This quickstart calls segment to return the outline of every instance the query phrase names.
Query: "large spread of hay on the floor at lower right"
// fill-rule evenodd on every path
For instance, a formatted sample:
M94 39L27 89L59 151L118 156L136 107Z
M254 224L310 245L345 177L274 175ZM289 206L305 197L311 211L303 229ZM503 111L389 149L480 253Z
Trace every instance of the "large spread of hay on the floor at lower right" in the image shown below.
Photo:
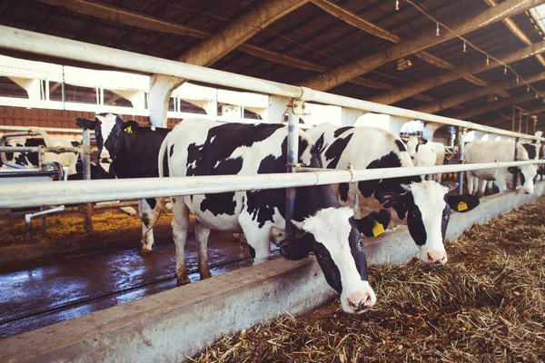
M224 337L190 361L543 361L544 225L541 199L448 243L445 267L372 267L379 302L362 315L337 299Z

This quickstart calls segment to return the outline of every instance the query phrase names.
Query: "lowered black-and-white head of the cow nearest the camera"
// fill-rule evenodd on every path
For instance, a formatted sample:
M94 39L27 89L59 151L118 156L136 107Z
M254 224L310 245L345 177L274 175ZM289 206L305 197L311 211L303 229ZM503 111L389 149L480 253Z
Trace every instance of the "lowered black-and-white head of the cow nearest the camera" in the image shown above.
M369 285L363 236L356 229L353 215L350 207L325 208L304 221L292 221L306 234L282 240L279 246L282 256L290 260L300 260L313 252L325 280L341 295L342 309L358 314L372 307L377 298Z

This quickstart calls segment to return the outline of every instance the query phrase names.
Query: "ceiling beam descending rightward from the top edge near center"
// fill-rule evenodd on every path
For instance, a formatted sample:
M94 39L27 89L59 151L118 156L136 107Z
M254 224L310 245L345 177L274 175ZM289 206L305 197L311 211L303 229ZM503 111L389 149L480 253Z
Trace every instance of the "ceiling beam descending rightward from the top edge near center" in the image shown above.
M348 10L343 9L339 5L332 4L328 0L312 0L312 4L321 7L323 10L325 10L329 14L338 17L343 22L348 23L364 32L381 37L382 39L389 40L394 44L398 44L401 42L400 36L391 33L390 31L382 28L379 25L373 24L369 20L362 18L362 16L360 15L354 14ZM422 61L435 65L436 67L450 69L450 70L456 69L456 65L451 64L450 62L447 62L436 55L430 54L429 52L420 51L415 53L414 55L421 58ZM470 81L471 83L475 83L482 87L488 86L488 83L482 81L481 79L473 75L468 76L466 79ZM504 95L504 96L509 96L509 95Z

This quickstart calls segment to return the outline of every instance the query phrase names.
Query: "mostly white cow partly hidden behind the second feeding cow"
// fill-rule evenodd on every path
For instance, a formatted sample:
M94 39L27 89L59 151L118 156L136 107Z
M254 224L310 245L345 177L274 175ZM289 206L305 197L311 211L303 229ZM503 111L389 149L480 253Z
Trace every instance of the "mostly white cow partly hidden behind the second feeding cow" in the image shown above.
M407 140L407 152L415 166L442 165L445 159L445 145L426 139L419 141L416 136ZM426 175L426 179L441 182L441 173Z

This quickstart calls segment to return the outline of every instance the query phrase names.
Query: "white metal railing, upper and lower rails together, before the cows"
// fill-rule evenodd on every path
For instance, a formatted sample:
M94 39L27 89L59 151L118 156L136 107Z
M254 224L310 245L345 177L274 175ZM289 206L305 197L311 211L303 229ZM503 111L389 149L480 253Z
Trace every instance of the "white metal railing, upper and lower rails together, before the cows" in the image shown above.
M193 64L183 64L176 61L154 58L143 54L134 54L100 45L85 44L6 26L0 26L0 48L12 49L25 53L45 54L91 64L103 64L105 66L148 74L175 76L186 80L213 83L257 93L273 94L291 98L298 103L309 101L332 104L373 113L387 113L405 118L419 119L431 123L450 124L458 126L459 130L479 130L515 138L545 141L545 138L495 129L478 123L470 123L449 117L401 109L399 107L383 105L380 103L371 103L341 95L314 91L302 86L265 81L241 74L230 74ZM292 112L293 110L290 108L290 120L293 119ZM279 122L280 121L281 120L279 120ZM290 140L293 138L293 132L298 132L297 128L298 124L294 127L290 127ZM297 142L295 142L295 144L297 144ZM297 161L291 160L289 162L293 164ZM6 186L3 198L0 200L0 208L128 200L226 191L292 188L338 182L360 182L438 172L464 172L538 163L544 162L488 162L481 164L332 172L295 172L286 174L233 176L220 175L191 178L124 179L114 181L75 181L50 183L48 185L29 182L25 183L24 186ZM461 180L460 177L459 180ZM36 191L39 191L39 193L36 193Z

